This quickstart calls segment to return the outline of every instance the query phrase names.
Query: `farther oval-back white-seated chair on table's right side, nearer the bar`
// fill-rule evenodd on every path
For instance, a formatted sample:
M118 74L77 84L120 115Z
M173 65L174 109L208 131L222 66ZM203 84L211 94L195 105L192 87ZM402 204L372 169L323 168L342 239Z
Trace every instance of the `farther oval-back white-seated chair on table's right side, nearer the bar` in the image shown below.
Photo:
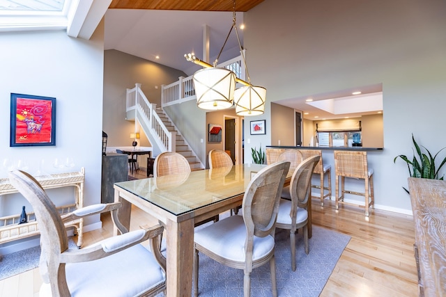
M308 203L311 203L312 175L320 156L310 156L295 168L289 186L288 199L281 199L276 227L290 230L291 269L295 271L295 232L302 228L305 253L308 255Z

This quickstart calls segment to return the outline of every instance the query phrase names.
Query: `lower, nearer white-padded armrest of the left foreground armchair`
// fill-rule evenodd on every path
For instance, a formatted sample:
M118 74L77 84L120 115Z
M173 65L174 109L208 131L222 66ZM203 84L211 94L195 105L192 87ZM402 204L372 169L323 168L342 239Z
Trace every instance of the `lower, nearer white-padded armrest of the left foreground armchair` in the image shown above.
M155 225L145 230L135 230L104 239L98 243L95 243L93 246L82 248L82 250L66 250L61 253L61 263L78 263L101 259L103 257L113 255L116 252L120 252L121 250L125 250L126 248L130 248L136 244L142 243L148 239L153 241L153 243L151 243L151 248L153 254L155 255L155 259L158 260L156 250L159 252L159 248L153 249L153 246L158 246L158 236L162 234L163 230L164 227ZM162 266L162 259L159 263ZM164 266L162 266L162 268L165 270L165 259Z

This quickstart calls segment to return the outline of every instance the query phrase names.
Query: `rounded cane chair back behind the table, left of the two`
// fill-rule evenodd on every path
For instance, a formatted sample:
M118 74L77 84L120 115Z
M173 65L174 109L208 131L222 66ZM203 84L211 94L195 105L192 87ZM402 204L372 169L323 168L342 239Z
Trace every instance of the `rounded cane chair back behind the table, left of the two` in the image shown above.
M178 152L162 152L158 154L153 163L153 168L154 177L190 172L189 162Z

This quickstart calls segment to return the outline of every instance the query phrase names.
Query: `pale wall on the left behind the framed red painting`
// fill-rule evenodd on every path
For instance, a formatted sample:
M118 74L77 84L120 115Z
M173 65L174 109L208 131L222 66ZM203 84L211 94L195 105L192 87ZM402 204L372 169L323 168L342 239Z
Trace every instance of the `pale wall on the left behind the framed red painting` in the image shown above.
M0 33L0 161L26 161L28 171L58 172L55 158L72 157L86 171L84 204L100 202L102 160L103 25L91 40L70 38L66 31ZM10 93L56 97L56 145L9 147ZM0 177L7 172L0 164ZM72 188L52 190L55 204L74 201ZM15 197L13 195L8 195ZM0 216L20 214L24 198L0 197ZM85 230L101 227L99 216L86 220Z

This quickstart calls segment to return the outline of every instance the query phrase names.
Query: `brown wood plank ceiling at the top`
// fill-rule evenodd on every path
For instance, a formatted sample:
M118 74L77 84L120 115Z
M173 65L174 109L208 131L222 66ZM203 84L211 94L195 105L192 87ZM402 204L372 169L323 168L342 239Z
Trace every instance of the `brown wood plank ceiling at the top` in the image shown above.
M236 11L246 12L263 0L236 0ZM109 8L155 10L233 11L232 0L112 0Z

